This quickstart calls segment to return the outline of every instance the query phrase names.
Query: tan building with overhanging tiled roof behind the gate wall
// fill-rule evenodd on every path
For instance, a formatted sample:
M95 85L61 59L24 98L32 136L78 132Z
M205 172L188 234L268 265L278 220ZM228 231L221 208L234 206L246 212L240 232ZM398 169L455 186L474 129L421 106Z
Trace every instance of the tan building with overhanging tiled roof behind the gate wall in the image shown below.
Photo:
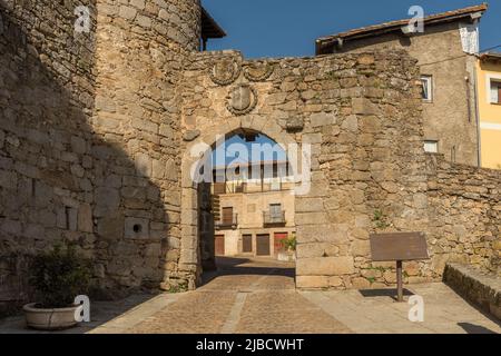
M424 149L452 162L480 165L475 108L479 22L487 4L424 18L424 32L410 20L392 21L316 40L316 55L405 49L419 60L423 83Z

